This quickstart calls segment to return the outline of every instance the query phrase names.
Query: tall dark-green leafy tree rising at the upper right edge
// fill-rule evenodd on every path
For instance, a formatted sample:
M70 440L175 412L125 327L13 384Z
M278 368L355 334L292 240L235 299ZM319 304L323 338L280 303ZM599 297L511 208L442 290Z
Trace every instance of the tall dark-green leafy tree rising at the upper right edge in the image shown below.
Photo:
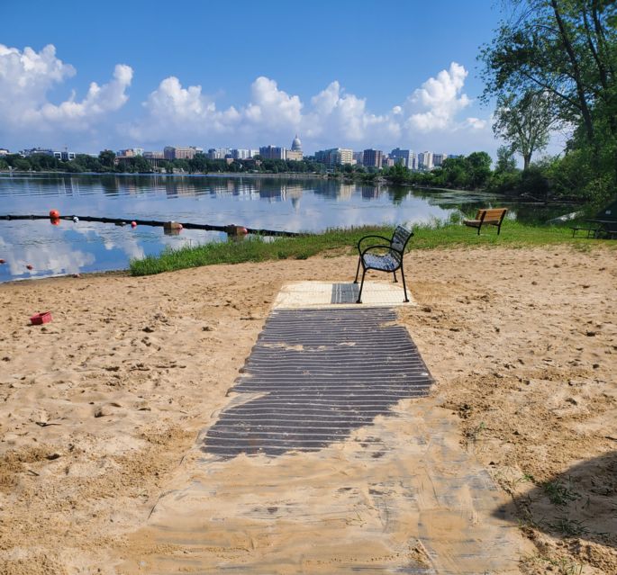
M482 50L485 101L542 94L571 126L569 148L617 180L617 3L510 0L511 10ZM607 189L608 189L607 187Z

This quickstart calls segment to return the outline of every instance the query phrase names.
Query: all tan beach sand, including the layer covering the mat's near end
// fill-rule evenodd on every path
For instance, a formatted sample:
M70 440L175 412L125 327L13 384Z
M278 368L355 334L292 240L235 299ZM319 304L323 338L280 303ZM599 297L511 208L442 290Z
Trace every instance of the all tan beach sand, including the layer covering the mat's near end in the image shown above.
M204 461L199 434L233 400L281 287L350 281L355 265L332 256L0 285L0 572L218 572L225 561L474 572L448 546L451 517L425 514L420 529L424 501L401 487L421 489L426 470L456 475L446 451L413 452L418 436L440 436L497 486L518 550L501 572L617 572L614 249L410 253L417 305L399 321L436 383L365 432L392 456L367 461L349 438L319 457ZM43 310L53 320L28 325ZM333 485L349 487L344 498ZM322 523L286 517L300 508ZM493 525L496 510L474 521ZM204 513L220 528L196 541Z

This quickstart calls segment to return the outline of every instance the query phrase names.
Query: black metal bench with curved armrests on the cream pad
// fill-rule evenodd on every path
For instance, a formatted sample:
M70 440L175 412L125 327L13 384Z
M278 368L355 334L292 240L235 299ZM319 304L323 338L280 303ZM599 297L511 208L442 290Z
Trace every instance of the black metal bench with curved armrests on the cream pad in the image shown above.
M396 226L392 238L375 235L360 238L358 241L358 268L356 269L356 279L353 283L358 283L360 265L362 265L362 282L360 283L360 291L358 292L358 301L356 303L362 303L362 288L364 287L364 276L367 274L367 270L377 270L377 272L386 272L387 274L392 273L395 275L395 282L397 282L396 270L400 269L401 277L403 278L404 301L409 301L407 298L407 288L405 287L403 256L407 242L412 236L413 232L409 229L403 226ZM368 238L378 238L383 240L383 242L366 246L363 242Z

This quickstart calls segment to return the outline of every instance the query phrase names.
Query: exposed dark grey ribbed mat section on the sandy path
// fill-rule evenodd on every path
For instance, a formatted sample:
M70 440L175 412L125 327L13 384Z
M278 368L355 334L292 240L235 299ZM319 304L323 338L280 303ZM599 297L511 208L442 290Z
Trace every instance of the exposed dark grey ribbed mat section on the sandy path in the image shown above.
M427 395L431 375L389 308L275 310L202 450L223 458L317 451L347 439L399 400Z

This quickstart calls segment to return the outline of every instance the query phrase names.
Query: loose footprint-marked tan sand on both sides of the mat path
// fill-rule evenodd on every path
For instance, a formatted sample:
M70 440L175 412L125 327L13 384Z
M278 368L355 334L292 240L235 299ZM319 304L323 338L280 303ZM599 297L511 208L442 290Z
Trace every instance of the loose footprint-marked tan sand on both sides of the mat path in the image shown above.
M614 250L406 259L418 306L400 320L437 380L431 401L512 495L508 511L527 517L535 548L517 569L617 571ZM0 571L116 572L152 553L156 542L140 548L132 534L227 405L280 287L346 269L351 280L355 264L319 257L0 286ZM53 321L29 327L43 310ZM559 504L551 482L562 485ZM422 555L417 545L410 556Z

